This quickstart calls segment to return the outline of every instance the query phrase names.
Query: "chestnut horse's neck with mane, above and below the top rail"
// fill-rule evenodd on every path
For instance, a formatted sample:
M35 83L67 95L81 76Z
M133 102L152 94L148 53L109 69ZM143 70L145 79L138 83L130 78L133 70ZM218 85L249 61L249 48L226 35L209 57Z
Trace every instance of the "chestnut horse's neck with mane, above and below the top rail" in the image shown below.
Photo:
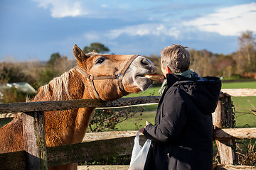
M88 86L85 84L85 80L82 79L81 75L76 72L75 69L71 69L70 72L64 73L61 77L57 77L50 81L49 84L42 86L33 101L90 98L92 91L90 91L90 89L87 90L87 88ZM60 137L61 140L65 140L62 141L62 144L81 142L90 123L90 118L92 117L94 109L95 108L79 108L70 109L68 111L46 112L46 126L48 126L46 127L46 130L50 127L58 127L58 125L50 125L52 123L61 123L60 127L63 128L56 129L55 131L60 130L62 132L56 132L56 134L63 134L63 136ZM58 114L58 116L53 114ZM65 114L70 114L70 116ZM52 120L53 118L59 118L60 116L63 120ZM50 134L47 134L46 132L46 135ZM49 136L49 140L50 138L51 137Z

